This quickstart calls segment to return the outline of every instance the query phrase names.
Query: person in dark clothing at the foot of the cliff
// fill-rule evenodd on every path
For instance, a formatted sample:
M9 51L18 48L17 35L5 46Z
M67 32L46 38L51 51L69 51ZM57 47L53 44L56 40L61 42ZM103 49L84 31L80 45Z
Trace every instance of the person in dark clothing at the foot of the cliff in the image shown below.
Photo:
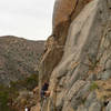
M49 83L46 81L42 85L42 89L41 89L41 99L44 99L44 98L50 95L48 88L49 88Z

